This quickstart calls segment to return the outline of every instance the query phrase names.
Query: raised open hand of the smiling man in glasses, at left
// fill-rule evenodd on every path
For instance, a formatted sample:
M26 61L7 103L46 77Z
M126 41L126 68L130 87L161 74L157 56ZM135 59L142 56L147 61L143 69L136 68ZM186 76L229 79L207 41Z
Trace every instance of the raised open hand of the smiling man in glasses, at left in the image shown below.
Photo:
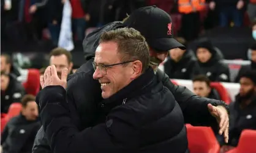
M48 66L43 76L40 76L40 84L42 89L49 85L61 85L67 87L67 68L62 69L61 79L59 79L55 65Z

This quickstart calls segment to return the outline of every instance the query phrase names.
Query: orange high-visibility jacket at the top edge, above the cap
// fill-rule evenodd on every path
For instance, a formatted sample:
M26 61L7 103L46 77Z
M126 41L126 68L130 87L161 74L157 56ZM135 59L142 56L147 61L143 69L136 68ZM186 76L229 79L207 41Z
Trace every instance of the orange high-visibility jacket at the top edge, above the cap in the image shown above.
M178 0L180 13L192 13L204 10L206 7L205 0Z

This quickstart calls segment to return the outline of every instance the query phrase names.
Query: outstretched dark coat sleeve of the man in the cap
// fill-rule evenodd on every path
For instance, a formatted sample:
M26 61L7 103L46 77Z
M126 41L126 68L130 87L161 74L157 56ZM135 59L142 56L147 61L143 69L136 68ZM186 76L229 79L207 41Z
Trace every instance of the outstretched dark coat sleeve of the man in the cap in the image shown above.
M173 96L175 96L176 101L183 111L185 123L192 124L193 126L218 127L217 121L211 113L209 113L207 105L224 105L226 107L227 105L225 102L208 98L200 98L186 87L174 85L167 74L163 73L160 69L157 71L157 75L159 79L162 80L164 86L173 93Z

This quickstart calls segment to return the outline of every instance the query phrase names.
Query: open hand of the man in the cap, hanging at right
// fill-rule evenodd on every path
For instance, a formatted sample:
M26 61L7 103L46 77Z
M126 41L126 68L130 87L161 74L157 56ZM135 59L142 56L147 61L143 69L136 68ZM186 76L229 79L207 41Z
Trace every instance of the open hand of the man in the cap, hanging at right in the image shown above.
M224 132L225 143L228 143L229 118L227 110L222 105L213 106L211 104L208 104L208 110L219 123L219 134L222 135L222 133Z

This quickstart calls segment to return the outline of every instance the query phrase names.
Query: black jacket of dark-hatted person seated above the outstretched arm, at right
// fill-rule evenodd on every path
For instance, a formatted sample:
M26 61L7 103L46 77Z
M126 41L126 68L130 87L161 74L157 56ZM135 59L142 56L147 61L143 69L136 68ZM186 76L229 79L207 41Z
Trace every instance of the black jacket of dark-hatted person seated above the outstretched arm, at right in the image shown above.
M200 71L206 75L211 81L230 82L230 73L228 66L222 63L219 55L213 54L211 59L206 63L198 61Z

